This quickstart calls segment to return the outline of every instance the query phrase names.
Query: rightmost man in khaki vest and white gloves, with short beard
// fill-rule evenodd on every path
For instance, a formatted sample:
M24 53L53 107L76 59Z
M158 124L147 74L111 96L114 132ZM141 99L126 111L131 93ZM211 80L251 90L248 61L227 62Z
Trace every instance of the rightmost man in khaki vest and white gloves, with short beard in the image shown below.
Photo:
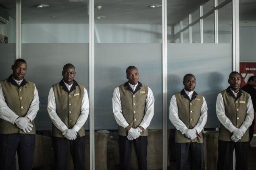
M249 133L254 119L250 94L239 89L241 76L229 74L229 87L220 92L216 101L216 113L221 122L217 170L229 170L235 149L236 170L247 170Z

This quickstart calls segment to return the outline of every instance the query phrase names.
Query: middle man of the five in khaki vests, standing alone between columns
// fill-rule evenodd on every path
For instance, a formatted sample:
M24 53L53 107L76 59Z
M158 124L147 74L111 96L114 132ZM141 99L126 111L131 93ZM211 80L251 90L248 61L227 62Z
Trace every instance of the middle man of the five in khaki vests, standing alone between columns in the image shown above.
M154 115L152 90L139 82L135 66L126 70L128 82L114 89L114 118L119 125L119 170L129 170L134 143L139 170L147 170L148 126Z

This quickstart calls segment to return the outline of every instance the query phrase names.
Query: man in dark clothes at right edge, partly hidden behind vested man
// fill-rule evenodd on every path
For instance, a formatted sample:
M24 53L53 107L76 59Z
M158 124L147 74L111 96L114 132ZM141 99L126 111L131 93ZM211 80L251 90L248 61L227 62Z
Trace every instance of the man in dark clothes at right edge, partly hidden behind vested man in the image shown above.
M248 92L252 98L252 105L254 112L256 111L256 89L254 88L256 86L256 76L251 76L248 80L248 84L244 85L241 89L245 92ZM255 117L252 121L252 125L249 127L249 139L252 140L253 134L254 134L254 125L255 125Z

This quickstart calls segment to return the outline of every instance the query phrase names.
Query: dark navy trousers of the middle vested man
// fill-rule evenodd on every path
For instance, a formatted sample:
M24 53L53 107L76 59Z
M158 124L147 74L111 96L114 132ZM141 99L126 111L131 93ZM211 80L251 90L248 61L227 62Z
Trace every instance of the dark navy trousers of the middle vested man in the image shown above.
M132 141L127 136L119 135L119 170L130 170L131 149L135 146L139 170L147 170L148 136L139 136Z

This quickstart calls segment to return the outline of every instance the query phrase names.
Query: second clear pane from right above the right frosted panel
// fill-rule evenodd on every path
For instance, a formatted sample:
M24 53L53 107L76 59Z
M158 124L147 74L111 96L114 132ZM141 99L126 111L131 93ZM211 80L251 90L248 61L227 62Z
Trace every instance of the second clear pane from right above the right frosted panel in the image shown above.
M214 13L203 20L204 25L204 43L214 43Z

